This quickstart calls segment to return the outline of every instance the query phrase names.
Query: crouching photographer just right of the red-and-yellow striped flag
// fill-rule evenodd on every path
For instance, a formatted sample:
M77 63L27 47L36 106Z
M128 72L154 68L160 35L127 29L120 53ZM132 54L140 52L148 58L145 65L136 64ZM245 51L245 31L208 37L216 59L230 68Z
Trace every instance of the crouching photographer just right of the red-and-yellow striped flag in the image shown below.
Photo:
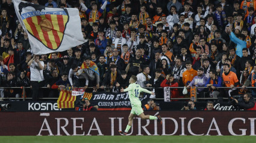
M92 106L89 99L84 98L78 101L75 108L76 111L97 111L98 106Z

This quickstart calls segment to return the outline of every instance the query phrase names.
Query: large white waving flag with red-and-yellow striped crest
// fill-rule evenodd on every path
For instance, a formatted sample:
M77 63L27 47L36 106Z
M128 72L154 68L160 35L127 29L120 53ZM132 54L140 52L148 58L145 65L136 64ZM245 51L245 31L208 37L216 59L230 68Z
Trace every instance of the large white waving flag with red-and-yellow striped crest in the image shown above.
M17 17L36 55L61 52L85 42L76 8L48 8L13 0Z

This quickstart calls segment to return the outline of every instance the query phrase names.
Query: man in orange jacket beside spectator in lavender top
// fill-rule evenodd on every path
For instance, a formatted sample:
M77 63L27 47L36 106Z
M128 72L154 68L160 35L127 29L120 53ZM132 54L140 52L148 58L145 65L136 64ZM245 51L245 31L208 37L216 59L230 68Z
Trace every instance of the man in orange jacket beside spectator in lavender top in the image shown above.
M183 84L184 86L189 85L189 83L193 80L195 76L198 75L198 71L192 68L192 62L186 61L187 70L183 73Z

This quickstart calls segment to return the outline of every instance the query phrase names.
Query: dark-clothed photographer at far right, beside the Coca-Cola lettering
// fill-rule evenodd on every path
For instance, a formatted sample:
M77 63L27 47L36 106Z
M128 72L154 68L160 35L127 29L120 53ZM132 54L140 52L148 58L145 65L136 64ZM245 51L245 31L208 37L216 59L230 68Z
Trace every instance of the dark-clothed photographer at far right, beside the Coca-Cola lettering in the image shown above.
M238 106L240 109L256 110L255 99L249 93L243 94L243 100L233 99L231 103L233 103L234 106Z

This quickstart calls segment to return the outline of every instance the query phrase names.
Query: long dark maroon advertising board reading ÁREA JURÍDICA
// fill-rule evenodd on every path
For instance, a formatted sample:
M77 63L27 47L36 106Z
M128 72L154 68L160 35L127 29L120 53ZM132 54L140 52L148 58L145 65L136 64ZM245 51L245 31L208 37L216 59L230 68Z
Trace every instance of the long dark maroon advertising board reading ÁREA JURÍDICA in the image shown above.
M130 111L1 112L1 136L119 135ZM157 115L158 112L145 112ZM130 135L251 135L255 111L160 111L163 124L135 118Z

